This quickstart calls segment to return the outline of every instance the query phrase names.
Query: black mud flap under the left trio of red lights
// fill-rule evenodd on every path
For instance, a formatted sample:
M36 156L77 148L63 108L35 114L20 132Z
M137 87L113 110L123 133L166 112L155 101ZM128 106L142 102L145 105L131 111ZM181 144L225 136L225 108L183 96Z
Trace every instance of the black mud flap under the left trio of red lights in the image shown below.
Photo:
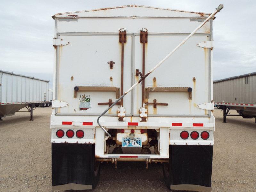
M97 184L95 145L52 143L52 189L86 190ZM100 169L100 168L99 168Z

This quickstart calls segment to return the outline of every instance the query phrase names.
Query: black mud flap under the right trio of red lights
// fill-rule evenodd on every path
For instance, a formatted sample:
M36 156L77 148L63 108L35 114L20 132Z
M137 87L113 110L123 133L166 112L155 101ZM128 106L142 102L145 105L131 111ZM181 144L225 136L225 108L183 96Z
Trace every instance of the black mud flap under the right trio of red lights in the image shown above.
M213 146L170 145L168 188L173 190L211 191ZM164 166L163 166L164 169Z

